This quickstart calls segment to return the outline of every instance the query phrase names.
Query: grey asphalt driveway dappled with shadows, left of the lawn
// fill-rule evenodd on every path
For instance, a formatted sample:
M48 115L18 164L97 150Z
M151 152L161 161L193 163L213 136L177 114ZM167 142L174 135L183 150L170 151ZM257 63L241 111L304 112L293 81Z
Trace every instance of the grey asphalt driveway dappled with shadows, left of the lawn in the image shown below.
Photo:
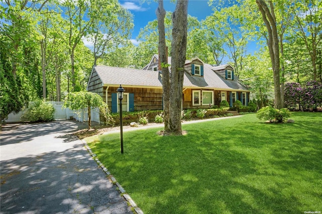
M0 213L133 213L71 132L75 121L6 125L0 139Z

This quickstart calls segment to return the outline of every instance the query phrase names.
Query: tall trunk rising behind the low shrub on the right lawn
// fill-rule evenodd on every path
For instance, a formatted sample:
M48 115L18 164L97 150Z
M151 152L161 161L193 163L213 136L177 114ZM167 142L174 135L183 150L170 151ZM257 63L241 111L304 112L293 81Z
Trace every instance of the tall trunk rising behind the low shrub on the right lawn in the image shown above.
M267 46L270 52L273 76L274 76L274 92L275 92L275 108L283 108L280 87L280 56L279 56L279 41L276 28L276 18L274 14L274 6L272 1L269 1L270 9L263 0L256 0L257 6L262 14L263 21L268 32Z

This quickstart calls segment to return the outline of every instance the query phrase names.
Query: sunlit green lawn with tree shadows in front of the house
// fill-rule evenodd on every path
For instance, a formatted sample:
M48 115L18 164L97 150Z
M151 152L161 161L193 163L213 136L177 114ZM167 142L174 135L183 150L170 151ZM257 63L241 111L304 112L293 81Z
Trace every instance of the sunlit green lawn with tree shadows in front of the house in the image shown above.
M322 114L292 113L294 124L255 114L88 138L100 161L144 213L322 211Z

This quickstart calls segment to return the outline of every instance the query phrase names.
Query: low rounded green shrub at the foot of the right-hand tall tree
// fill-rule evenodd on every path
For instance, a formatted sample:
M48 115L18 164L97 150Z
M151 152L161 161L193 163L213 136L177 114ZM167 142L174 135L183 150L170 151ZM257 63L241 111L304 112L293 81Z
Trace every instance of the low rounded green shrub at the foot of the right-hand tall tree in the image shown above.
M260 120L263 119L271 123L273 122L281 123L285 119L289 118L290 116L291 114L288 109L278 110L278 109L274 109L272 106L263 107L256 114L256 117L258 119Z

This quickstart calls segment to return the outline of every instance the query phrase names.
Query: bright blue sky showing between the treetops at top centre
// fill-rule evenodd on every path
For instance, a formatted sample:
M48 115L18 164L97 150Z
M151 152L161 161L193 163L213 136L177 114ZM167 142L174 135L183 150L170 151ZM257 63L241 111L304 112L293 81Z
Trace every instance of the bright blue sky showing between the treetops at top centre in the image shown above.
M128 9L134 16L134 30L132 32L132 42L136 43L136 37L141 28L144 28L148 22L156 19L155 10L157 2L153 0L145 0L144 3L140 0L119 0L122 7ZM164 1L166 11L173 12L176 8L176 3L170 0ZM212 14L211 7L208 6L208 0L190 0L188 5L188 14L197 17L199 21L204 20Z

